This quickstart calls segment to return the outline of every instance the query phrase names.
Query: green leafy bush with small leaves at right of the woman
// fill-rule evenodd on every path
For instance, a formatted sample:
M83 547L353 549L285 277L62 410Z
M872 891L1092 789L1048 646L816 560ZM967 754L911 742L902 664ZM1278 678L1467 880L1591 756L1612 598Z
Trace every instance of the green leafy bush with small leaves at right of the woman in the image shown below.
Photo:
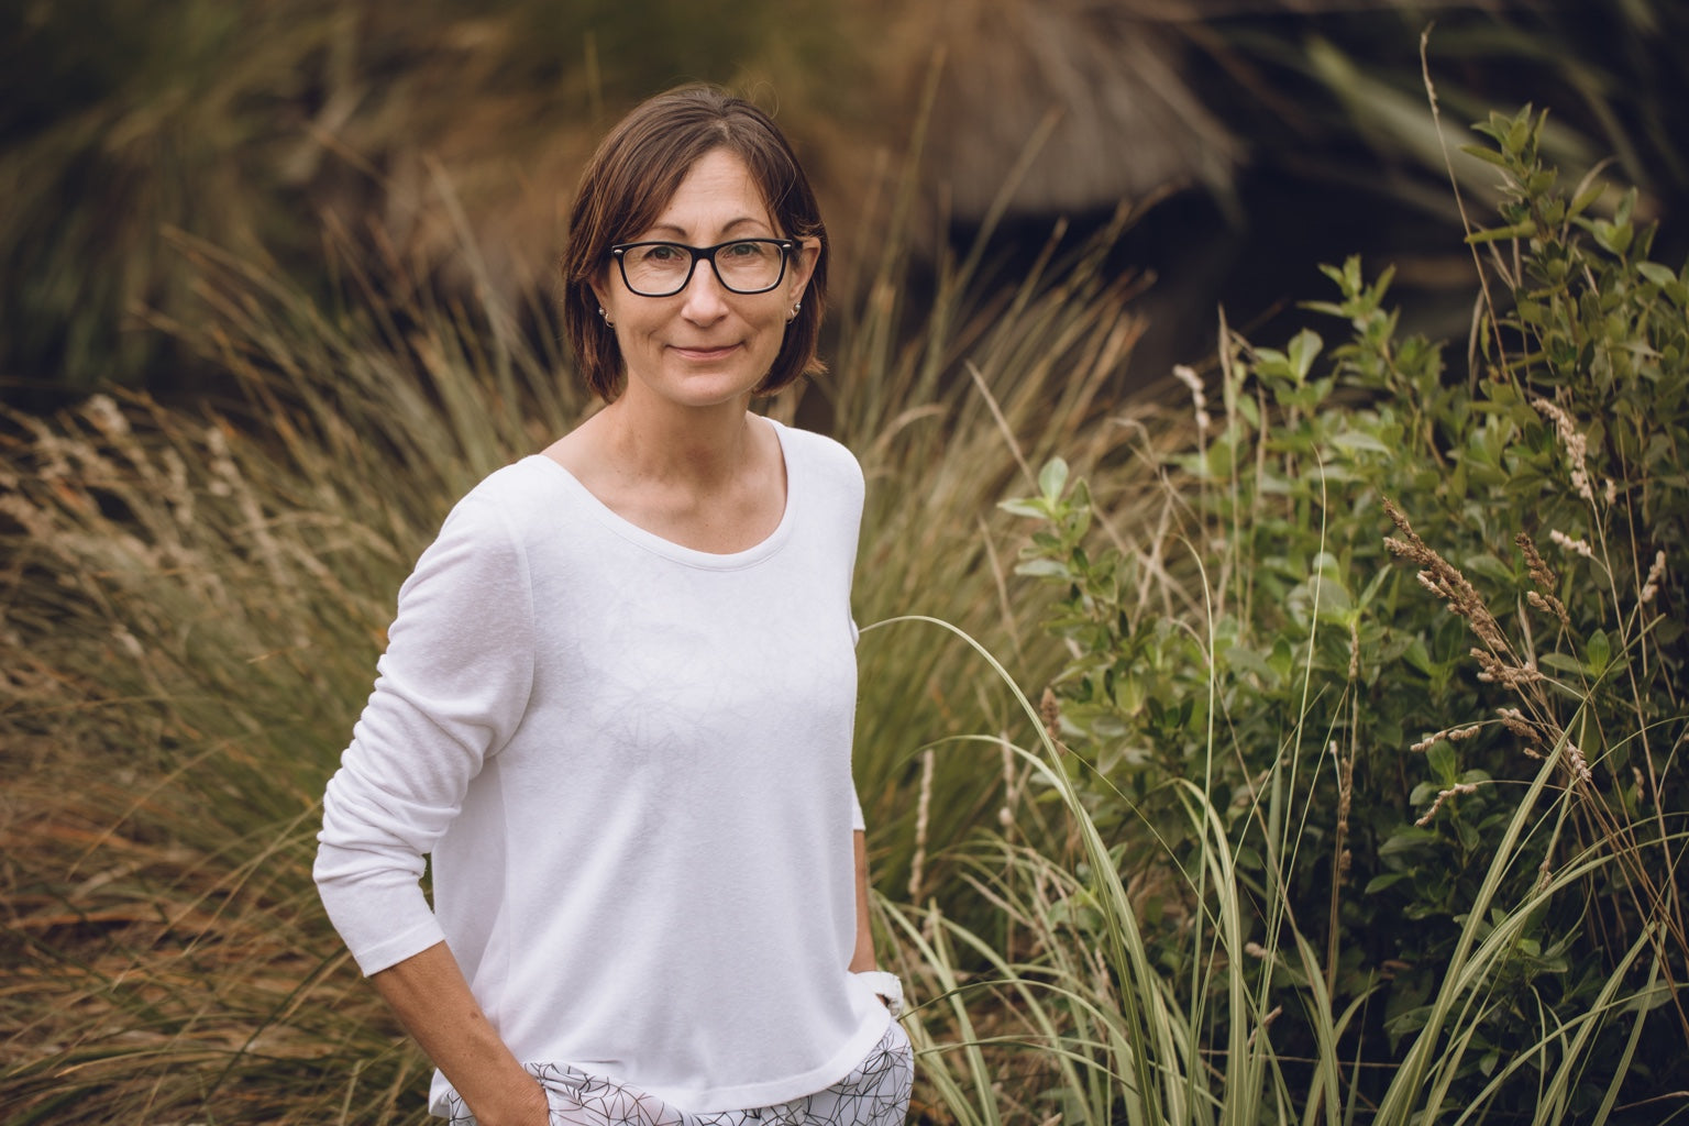
M1633 196L1598 218L1599 184L1559 189L1542 127L1480 127L1507 186L1468 240L1468 376L1350 260L1311 306L1341 346L1228 334L1213 407L1184 373L1198 442L1164 459L1164 528L1098 547L1059 461L1012 505L1044 522L1022 572L1073 653L1062 766L1143 890L1149 964L1198 1004L1233 984L1213 959L1246 961L1279 1058L1329 1065L1343 1028L1346 1097L1380 1121L1584 1121L1689 1064L1689 267L1648 260ZM1203 1035L1225 1050L1267 1008Z

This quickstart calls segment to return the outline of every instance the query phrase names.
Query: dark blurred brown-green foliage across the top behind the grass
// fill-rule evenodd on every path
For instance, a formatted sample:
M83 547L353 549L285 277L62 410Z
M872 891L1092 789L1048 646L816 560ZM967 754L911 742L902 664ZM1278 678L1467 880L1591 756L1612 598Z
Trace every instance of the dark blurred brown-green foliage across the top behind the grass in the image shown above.
M1407 316L1436 331L1469 312L1437 299L1464 302L1471 267L1419 253L1453 218L1417 54L1432 20L1453 125L1552 105L1544 145L1571 176L1611 159L1640 214L1684 208L1689 14L1667 0L17 0L0 10L0 380L32 407L211 390L179 333L154 331L198 316L176 233L321 294L328 225L444 295L495 287L554 339L576 171L682 79L779 115L846 258L875 258L853 233L917 122L927 253L966 245L1010 182L1007 270L1057 216L1078 238L1123 199L1160 201L1113 263L1159 279L1138 383L1211 346L1216 304L1248 322L1353 252L1397 260ZM1454 169L1493 196L1485 169Z

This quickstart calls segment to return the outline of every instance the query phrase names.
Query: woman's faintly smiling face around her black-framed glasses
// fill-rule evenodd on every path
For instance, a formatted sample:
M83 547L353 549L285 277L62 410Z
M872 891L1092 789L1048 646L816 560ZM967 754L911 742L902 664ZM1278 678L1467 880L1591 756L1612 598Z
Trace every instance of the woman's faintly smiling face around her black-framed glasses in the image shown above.
M745 162L714 149L698 159L657 221L627 241L714 246L735 238L784 236ZM628 290L611 262L593 292L622 348L623 397L654 395L684 407L747 398L774 366L817 255L814 240L799 246L785 277L765 294L735 294L708 262L699 262L686 289L671 297Z

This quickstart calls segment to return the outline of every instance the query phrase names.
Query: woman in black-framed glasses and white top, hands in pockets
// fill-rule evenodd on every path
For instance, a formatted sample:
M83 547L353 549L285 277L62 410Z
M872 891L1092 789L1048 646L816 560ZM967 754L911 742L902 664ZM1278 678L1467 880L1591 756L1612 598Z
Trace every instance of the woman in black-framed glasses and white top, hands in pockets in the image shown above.
M780 132L716 89L581 179L564 324L605 407L448 517L324 798L323 901L436 1114L905 1114L850 775L861 471L748 410L819 366L826 263Z

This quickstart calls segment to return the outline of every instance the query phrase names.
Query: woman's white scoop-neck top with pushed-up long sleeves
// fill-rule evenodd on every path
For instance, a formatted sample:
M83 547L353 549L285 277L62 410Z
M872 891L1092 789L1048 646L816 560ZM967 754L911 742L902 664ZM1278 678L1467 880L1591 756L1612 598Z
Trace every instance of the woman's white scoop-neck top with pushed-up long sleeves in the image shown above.
M730 555L537 454L464 496L400 589L316 859L365 974L446 940L519 1060L699 1112L821 1091L888 1020L848 972L861 469L777 434L785 513Z

